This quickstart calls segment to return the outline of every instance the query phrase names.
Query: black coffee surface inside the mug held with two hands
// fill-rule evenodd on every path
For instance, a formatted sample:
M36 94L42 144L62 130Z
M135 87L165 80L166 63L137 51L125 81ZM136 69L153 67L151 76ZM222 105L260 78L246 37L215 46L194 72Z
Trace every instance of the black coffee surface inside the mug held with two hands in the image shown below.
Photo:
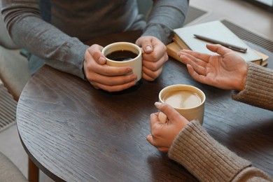
M137 57L137 54L130 50L116 50L106 55L108 59L117 62L124 62Z

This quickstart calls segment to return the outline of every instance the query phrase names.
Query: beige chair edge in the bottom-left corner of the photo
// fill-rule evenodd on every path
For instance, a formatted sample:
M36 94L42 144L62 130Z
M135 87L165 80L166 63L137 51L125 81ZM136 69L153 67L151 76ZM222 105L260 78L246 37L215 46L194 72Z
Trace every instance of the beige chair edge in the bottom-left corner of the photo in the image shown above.
M6 155L0 152L0 181L25 182L27 179Z

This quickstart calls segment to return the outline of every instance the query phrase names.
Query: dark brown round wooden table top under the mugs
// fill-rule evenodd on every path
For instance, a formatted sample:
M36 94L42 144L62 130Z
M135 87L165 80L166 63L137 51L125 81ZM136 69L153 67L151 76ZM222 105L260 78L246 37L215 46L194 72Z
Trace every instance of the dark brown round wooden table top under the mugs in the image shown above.
M22 144L55 181L197 181L146 141L160 90L178 83L206 94L203 126L214 139L273 176L273 112L232 100L232 91L197 83L172 58L157 80L115 93L43 66L18 102Z

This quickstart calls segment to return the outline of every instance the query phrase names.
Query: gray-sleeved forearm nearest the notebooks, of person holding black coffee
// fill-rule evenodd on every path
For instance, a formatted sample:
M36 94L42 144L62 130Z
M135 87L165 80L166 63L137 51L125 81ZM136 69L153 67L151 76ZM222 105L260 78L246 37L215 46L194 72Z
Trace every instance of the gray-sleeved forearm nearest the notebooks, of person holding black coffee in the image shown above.
M187 0L154 0L143 36L155 36L163 43L172 41L173 29L183 26L188 11Z

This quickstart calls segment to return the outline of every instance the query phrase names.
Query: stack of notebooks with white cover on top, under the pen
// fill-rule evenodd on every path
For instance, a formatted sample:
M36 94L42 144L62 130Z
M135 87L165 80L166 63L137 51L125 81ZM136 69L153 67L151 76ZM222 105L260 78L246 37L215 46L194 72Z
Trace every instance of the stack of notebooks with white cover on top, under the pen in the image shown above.
M196 36L202 36L202 38L197 38ZM167 45L167 53L170 57L180 62L182 61L177 56L177 52L181 49L216 54L206 48L207 43L221 43L226 46L229 45L227 46L228 48L232 48L230 45L234 45L235 52L243 57L246 62L253 62L262 66L267 65L267 59L269 58L267 55L250 48L237 35L230 31L228 27L225 27L221 21L206 22L174 29L174 42ZM238 47L244 48L244 50L238 50Z

